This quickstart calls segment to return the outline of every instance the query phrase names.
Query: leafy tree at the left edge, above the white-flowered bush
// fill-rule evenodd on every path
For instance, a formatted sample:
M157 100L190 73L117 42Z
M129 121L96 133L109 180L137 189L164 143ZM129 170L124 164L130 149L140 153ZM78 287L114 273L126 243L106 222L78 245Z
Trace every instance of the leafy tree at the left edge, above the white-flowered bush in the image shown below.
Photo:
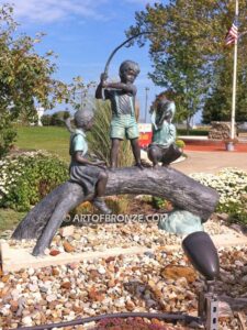
M34 121L36 106L52 109L56 102L74 102L76 90L82 88L79 78L70 85L53 78L57 70L52 62L53 52L44 56L35 52L35 38L16 35L18 23L13 8L0 8L0 157L8 153L15 138L13 122L18 119Z

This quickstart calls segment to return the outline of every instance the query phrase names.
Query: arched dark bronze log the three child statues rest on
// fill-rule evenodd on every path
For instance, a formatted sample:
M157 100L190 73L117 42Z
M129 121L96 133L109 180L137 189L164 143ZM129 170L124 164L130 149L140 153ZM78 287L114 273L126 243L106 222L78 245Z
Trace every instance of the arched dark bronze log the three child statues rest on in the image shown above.
M171 168L157 169L122 167L109 172L106 196L112 195L153 195L170 200L177 208L188 210L206 221L214 211L218 194L201 185L189 176ZM90 200L91 196L87 196ZM65 183L48 194L20 222L12 238L37 239L33 254L38 255L49 246L53 237L66 215L86 200L81 187Z

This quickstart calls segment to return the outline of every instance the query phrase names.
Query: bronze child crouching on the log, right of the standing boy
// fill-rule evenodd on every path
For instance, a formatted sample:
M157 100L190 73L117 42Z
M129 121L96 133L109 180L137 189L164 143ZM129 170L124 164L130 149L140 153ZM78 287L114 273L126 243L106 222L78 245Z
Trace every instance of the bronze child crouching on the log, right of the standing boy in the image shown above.
M148 145L147 155L153 162L154 168L158 163L169 165L181 156L181 151L176 146L176 127L171 123L175 116L175 102L167 98L158 98L151 114L153 138Z

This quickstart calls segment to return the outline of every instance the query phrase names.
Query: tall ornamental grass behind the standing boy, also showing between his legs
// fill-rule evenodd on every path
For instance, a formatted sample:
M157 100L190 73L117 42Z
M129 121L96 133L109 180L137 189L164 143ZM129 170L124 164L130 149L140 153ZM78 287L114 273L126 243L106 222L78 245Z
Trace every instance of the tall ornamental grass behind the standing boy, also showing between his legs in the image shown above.
M94 123L88 134L89 152L110 165L110 123L112 117L110 102L98 100L96 108ZM131 166L133 162L134 157L130 141L124 140L120 147L119 166Z

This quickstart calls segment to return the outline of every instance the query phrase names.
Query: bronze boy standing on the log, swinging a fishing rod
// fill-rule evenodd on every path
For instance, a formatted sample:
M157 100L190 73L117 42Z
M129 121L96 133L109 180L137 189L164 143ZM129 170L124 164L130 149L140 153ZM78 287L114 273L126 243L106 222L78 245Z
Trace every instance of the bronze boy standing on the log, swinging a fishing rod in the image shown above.
M112 108L112 121L110 136L111 145L111 168L117 166L120 143L124 138L131 141L132 151L136 166L143 168L141 164L141 150L138 145L138 127L135 97L137 89L133 85L139 74L139 66L133 61L125 61L120 66L119 82L106 81L105 74L101 75L101 81L96 91L97 99L109 99ZM103 95L104 89L104 95Z

